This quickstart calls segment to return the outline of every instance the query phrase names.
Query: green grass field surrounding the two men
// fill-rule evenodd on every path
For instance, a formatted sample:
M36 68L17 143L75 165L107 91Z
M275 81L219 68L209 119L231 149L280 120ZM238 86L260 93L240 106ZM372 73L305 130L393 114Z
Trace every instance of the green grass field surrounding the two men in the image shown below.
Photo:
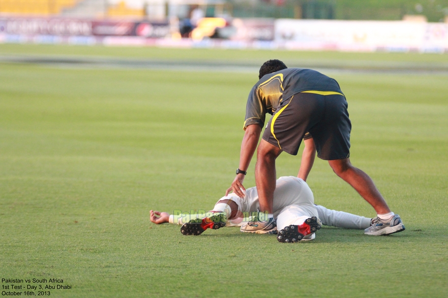
M0 45L0 55L447 63L446 55ZM335 62L336 61L336 62ZM363 62L364 63L364 62ZM0 278L58 278L56 297L445 297L446 75L328 73L353 124L351 160L406 224L390 237L322 228L285 245L237 228L184 237L151 209L212 208L234 178L257 74L0 64ZM277 175L300 155L282 154ZM254 161L245 180L254 185ZM316 203L373 209L327 163ZM6 283L2 283L5 285Z

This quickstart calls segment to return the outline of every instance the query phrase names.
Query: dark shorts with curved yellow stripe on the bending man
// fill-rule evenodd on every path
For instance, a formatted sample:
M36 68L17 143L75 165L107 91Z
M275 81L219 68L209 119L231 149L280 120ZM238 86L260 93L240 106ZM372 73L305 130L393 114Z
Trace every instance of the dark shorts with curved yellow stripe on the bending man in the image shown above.
M297 155L302 139L310 133L319 158L348 158L351 122L347 106L343 95L297 93L283 101L267 122L263 140Z

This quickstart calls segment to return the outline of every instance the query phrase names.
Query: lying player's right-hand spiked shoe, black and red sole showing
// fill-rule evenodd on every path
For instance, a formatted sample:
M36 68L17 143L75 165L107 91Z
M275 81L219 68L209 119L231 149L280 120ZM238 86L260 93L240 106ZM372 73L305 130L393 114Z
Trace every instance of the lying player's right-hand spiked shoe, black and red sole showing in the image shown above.
M294 243L298 241L313 240L314 232L322 227L322 222L313 216L305 220L301 225L291 224L279 231L277 240L284 243Z

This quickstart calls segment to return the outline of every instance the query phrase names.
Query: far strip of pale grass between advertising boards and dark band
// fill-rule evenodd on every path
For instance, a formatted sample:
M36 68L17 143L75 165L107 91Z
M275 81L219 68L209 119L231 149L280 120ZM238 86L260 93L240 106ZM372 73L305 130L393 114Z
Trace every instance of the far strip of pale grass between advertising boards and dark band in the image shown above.
M351 53L351 52L306 52L306 51L267 51L267 50L230 50L230 49L173 49L148 47L104 47L104 46L53 46L53 45L17 45L0 44L0 55L51 55L51 56L103 56L126 58L151 58L169 60L232 60L245 61L260 65L267 59L281 59L289 63L334 64L365 62L374 63L406 62L448 63L448 55L420 53ZM374 63L373 63L374 62ZM412 63L412 64L410 64ZM431 64L433 65L433 64Z

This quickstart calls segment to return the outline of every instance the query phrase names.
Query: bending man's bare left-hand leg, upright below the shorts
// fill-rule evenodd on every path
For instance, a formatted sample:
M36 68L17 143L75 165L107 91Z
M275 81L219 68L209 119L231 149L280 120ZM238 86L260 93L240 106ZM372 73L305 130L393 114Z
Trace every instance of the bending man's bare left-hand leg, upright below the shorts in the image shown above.
M274 190L276 187L275 160L282 150L264 140L261 140L257 150L255 165L255 182L258 191L260 211L273 213Z

